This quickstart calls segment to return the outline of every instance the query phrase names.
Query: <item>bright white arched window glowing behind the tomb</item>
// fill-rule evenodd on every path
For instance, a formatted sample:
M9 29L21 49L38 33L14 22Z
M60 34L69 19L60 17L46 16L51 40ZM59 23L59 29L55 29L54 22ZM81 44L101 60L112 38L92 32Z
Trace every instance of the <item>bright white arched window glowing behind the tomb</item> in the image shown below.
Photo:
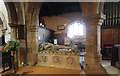
M67 36L69 38L80 37L84 35L84 23L80 21L74 21L68 26Z

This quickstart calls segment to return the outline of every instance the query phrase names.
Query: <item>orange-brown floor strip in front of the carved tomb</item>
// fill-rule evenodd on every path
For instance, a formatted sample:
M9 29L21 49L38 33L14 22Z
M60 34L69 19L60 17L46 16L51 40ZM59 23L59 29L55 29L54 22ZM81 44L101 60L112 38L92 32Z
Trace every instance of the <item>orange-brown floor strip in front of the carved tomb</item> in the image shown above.
M38 67L38 66L25 66L21 68L17 73L22 74L23 72L33 71L30 74L83 74L79 70L66 70L58 68Z

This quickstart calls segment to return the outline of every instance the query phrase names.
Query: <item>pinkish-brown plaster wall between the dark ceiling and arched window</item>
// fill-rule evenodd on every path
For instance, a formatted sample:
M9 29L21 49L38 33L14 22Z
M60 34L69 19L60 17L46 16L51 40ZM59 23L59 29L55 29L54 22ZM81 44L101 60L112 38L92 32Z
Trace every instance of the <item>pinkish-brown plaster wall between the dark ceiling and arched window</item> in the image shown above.
M46 16L43 17L43 19L45 20L45 25L47 28L58 31L57 27L59 25L69 25L72 21L81 20L81 17L81 12L72 12L59 14L58 16Z

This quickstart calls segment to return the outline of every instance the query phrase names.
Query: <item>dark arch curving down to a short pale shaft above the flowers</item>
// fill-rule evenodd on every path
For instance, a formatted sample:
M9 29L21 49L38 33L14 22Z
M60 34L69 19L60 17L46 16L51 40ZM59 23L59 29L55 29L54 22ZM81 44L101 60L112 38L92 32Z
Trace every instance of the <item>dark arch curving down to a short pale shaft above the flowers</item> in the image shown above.
M18 17L13 2L5 2L5 6L8 12L8 25L11 27L10 36L11 38L17 38L17 23Z

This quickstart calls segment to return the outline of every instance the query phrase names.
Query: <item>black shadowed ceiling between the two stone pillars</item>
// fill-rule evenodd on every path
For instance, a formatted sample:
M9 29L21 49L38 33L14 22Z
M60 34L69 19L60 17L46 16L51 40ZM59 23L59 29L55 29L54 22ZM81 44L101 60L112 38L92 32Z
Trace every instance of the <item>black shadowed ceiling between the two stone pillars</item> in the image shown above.
M40 10L40 17L57 16L70 12L81 12L79 2L44 2Z

